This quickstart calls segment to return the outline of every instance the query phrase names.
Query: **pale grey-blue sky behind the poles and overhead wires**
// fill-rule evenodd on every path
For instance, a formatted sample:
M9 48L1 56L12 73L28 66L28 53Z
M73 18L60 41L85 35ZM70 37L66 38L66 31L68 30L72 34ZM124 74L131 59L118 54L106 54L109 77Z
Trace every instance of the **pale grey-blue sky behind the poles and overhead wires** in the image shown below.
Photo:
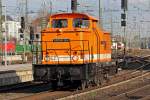
M28 0L28 11L38 12L39 9L43 7L42 2L44 1L46 2L47 8L50 7L50 1L52 2L53 12L70 12L71 0ZM9 15L12 15L16 18L19 16L19 2L21 2L21 0L2 0L2 2L3 5L6 4L7 13ZM78 0L78 3L80 4L78 6L79 12L86 12L95 16L96 18L99 18L99 0ZM120 34L123 32L123 29L120 26L120 16L122 13L120 5L121 0L101 0L101 20L103 22L103 28L106 31L111 31L113 34ZM150 0L128 0L127 35L130 33L134 33L134 35L142 33L143 37L149 35L149 10ZM112 24L110 24L111 21L113 22Z

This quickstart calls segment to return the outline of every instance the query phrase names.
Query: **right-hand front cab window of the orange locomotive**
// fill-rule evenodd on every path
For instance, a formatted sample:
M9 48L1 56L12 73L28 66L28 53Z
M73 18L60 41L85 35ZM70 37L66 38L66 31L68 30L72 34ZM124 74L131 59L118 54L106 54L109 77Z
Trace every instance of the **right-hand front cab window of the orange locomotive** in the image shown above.
M73 19L73 27L76 28L89 28L89 20L84 18Z

